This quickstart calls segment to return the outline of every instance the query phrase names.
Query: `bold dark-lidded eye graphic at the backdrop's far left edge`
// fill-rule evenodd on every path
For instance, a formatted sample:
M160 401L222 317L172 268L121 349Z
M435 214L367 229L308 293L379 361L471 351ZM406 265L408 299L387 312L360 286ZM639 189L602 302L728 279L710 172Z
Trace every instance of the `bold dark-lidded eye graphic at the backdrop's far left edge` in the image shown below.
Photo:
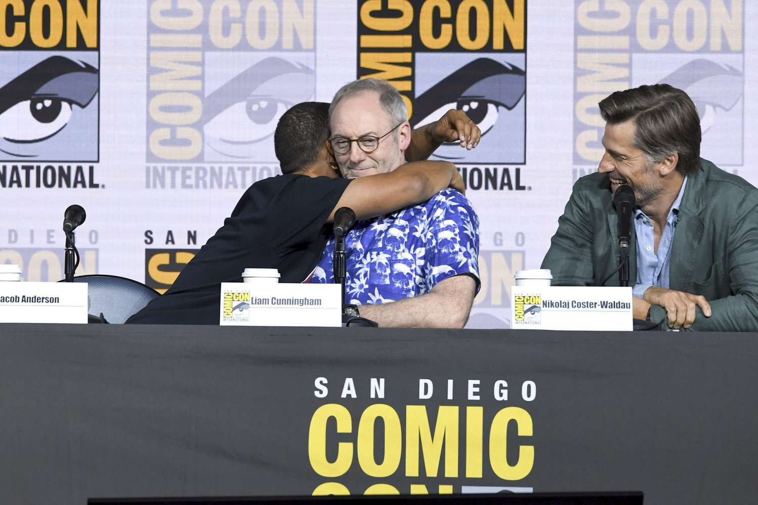
M98 70L53 56L40 61L0 89L0 151L37 157L45 144L77 121L98 92Z

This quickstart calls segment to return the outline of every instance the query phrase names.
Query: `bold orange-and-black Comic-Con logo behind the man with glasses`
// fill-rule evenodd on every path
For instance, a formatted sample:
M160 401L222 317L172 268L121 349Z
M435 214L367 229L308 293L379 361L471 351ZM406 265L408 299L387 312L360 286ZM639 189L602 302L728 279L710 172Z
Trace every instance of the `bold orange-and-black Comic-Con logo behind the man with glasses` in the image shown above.
M434 157L525 163L525 0L359 0L357 51L358 77L392 83L412 126L451 108L478 124L481 148L464 154L451 143Z

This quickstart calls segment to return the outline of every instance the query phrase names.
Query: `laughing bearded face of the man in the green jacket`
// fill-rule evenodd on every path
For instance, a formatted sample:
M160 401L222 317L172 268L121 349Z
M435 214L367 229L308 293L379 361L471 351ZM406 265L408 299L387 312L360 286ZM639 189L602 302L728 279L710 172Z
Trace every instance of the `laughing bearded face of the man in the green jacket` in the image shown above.
M606 124L603 133L603 147L606 151L597 171L609 174L613 192L619 185L630 185L637 205L644 207L661 195L663 185L656 170L657 164L648 161L644 152L634 147L636 128L632 120Z

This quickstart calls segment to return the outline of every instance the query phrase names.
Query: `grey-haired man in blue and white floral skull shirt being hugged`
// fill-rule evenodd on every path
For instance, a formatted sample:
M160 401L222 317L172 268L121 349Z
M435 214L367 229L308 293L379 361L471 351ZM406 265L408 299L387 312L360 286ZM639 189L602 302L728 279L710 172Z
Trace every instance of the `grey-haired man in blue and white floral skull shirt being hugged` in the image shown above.
M332 101L330 122L330 145L349 179L395 170L406 150L418 159L441 142L471 149L480 138L465 114L449 111L428 126L423 145L412 144L402 97L376 79L343 86ZM424 204L359 221L346 249L346 299L361 306L361 316L380 326L465 326L479 287L479 222L461 193L446 189ZM309 282L334 282L333 257L334 239Z

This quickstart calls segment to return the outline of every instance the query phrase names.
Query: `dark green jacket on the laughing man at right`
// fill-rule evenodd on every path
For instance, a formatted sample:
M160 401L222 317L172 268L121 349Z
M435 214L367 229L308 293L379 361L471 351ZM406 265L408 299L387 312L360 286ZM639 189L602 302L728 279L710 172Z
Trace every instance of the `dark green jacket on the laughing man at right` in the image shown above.
M758 189L701 159L690 174L679 207L669 288L708 300L712 315L697 308L692 330L758 331ZM619 265L618 217L606 173L579 179L542 268L553 285L601 285ZM629 283L637 279L637 240L632 226ZM605 285L619 285L614 275ZM663 307L650 320L666 329Z

